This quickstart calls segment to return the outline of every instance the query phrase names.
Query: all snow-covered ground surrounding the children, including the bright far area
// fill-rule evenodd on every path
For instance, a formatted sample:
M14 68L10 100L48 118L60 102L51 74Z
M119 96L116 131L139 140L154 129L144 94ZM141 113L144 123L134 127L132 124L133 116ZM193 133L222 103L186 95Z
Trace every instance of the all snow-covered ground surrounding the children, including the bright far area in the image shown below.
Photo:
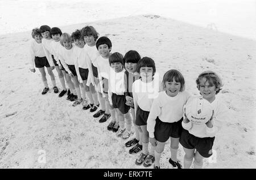
M52 90L40 94L40 73L28 70L28 41L42 24L68 33L93 25L112 40L113 52L134 49L153 58L158 72L180 70L193 95L200 72L218 72L224 88L217 96L229 118L204 168L256 168L255 1L118 2L0 1L0 168L144 168L134 165L126 141L106 130L108 122ZM168 147L162 168L171 168Z

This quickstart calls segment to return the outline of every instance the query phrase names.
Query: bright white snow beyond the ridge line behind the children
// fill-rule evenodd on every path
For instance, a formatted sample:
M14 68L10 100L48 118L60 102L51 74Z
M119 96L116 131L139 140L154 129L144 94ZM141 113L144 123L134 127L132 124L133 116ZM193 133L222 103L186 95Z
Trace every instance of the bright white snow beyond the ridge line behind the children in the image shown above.
M0 35L42 24L63 26L139 14L156 14L256 40L254 0L0 0Z

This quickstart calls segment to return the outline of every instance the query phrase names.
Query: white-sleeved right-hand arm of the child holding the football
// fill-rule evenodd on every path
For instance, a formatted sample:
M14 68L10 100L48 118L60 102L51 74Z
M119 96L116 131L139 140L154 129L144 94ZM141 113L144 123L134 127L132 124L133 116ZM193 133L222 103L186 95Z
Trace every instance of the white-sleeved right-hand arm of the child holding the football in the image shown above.
M222 121L227 118L228 109L224 105L218 106L218 109L213 114L212 120L205 123L207 126L206 132L210 137L214 137L222 127Z

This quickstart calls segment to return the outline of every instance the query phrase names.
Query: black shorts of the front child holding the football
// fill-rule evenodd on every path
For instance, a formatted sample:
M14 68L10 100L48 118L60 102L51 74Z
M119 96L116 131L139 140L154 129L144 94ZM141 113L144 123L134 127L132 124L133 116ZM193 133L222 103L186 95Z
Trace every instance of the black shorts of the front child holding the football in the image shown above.
M180 144L187 149L196 149L203 157L212 156L213 138L198 138L183 129L180 137Z

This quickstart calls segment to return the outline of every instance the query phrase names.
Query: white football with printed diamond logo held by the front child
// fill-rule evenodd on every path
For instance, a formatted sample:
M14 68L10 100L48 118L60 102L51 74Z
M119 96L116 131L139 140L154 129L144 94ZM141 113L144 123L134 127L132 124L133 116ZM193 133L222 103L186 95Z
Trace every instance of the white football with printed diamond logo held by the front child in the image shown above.
M192 100L188 100L184 108L188 120L195 125L207 123L213 113L212 105L203 97L195 97Z

